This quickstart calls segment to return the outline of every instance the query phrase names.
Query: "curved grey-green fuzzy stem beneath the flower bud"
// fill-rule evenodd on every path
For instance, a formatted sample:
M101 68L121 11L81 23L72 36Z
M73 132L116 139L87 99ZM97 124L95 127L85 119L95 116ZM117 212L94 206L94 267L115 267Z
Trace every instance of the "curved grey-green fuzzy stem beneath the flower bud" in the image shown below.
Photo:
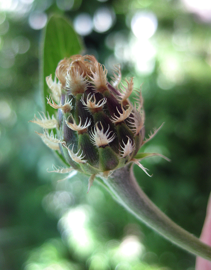
M101 178L121 205L146 225L181 248L211 261L211 247L168 218L138 186L131 164Z

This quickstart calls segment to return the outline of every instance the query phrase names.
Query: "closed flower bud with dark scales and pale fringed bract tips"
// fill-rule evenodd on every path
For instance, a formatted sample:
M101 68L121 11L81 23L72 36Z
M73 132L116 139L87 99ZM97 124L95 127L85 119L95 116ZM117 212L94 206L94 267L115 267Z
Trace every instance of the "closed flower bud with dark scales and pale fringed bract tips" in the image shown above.
M38 133L43 142L60 151L70 165L54 166L53 171L67 173L75 169L89 175L88 191L95 175L108 177L128 162L147 173L136 155L153 135L144 141L141 90L136 90L134 106L128 99L134 88L133 78L119 87L121 71L116 65L109 83L107 70L91 55L61 60L55 74L54 80L50 75L46 82L50 89L47 104L55 109L56 117L40 114L32 121L44 128L43 134ZM153 155L157 154L148 156Z

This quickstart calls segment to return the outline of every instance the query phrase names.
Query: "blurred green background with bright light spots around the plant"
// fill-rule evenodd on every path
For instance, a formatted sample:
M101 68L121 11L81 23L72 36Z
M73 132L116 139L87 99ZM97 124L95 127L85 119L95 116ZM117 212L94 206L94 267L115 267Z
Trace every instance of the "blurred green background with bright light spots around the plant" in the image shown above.
M43 110L39 44L65 14L111 75L134 76L146 112L151 200L199 236L211 190L211 4L190 0L0 0L0 269L194 270L195 257L137 221L97 183L61 165L28 123ZM64 179L65 178L65 179Z

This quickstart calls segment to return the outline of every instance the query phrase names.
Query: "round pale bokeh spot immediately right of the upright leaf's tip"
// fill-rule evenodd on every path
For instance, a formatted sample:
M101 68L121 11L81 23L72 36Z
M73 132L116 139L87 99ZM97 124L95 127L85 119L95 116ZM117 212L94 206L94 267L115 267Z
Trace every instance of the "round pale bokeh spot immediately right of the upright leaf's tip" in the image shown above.
M89 35L92 32L93 22L88 13L81 13L75 17L73 25L75 31L81 36Z

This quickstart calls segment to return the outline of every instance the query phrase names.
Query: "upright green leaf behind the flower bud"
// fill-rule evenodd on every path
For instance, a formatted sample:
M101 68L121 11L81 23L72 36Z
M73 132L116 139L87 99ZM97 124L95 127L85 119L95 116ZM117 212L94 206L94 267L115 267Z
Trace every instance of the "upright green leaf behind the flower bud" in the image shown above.
M44 97L49 95L49 89L46 84L46 77L52 74L54 79L55 70L60 60L71 55L79 54L83 49L82 41L75 33L71 23L64 17L53 15L50 17L46 28L43 32L41 42L41 87L44 90ZM55 110L47 106L46 111L50 116Z

